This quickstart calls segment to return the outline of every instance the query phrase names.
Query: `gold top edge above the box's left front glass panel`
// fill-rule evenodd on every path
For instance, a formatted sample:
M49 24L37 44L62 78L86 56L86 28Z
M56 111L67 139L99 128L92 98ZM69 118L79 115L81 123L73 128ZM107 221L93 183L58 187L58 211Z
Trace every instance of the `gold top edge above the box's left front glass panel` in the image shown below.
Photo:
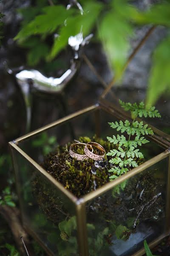
M65 196L67 196L74 204L78 200L77 197L75 197L71 192L69 192L67 189L65 189L57 180L54 179L48 172L45 171L38 163L36 163L31 157L29 157L20 147L18 147L15 143L9 142L9 145L11 145L17 152L19 152L22 157L24 157L28 163L30 163L32 166L34 166L39 172L42 173L51 183L54 184L54 186L57 187Z

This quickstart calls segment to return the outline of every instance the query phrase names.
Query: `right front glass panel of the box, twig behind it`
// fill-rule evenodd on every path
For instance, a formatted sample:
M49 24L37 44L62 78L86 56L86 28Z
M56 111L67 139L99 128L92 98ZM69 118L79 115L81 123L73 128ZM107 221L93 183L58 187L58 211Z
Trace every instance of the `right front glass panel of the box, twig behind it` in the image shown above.
M132 171L133 172L133 171ZM167 158L89 201L90 256L130 256L166 227Z

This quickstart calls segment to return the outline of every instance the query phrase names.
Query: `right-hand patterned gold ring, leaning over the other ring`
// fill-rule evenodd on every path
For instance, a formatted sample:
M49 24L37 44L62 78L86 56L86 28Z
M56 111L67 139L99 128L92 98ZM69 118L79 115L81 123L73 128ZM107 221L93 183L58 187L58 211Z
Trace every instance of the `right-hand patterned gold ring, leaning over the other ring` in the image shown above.
M92 149L94 149L94 148L99 149L99 151L102 154L100 154L100 155L99 154L94 154L93 150L92 151L89 150L89 147L92 148ZM105 154L106 154L105 148L103 148L99 143L96 143L96 142L89 142L89 143L87 143L85 145L84 151L85 151L85 154L88 157L90 157L90 158L92 158L94 160L102 160L105 157Z

